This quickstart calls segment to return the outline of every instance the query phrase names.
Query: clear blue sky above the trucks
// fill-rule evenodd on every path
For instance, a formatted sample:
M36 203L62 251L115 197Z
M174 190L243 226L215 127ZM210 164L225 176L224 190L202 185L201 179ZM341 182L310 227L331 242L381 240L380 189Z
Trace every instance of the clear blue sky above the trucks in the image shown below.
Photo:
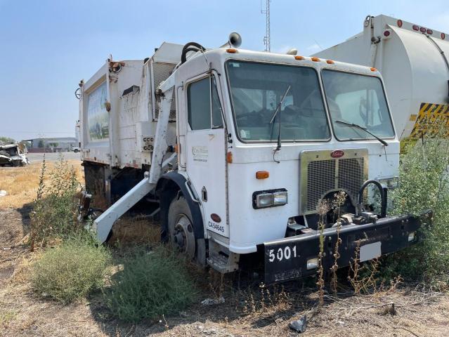
M271 1L271 50L308 55L385 14L449 33L445 1ZM108 55L143 59L163 41L216 47L230 32L263 50L261 0L0 0L0 136L74 136L74 89Z

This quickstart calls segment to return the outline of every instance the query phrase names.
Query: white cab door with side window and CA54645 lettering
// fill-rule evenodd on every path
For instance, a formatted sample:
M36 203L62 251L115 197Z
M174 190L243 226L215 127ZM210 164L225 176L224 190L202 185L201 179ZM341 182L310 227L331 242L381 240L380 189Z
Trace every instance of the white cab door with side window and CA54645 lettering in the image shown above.
M214 76L187 84L186 171L204 211L207 230L229 237L226 132Z

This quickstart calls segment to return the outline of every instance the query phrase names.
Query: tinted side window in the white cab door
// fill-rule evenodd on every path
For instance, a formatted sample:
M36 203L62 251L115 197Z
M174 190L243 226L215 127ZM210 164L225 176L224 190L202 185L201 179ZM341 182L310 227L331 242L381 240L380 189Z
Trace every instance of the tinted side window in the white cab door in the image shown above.
M187 99L188 124L193 131L223 127L215 80L207 77L189 84Z

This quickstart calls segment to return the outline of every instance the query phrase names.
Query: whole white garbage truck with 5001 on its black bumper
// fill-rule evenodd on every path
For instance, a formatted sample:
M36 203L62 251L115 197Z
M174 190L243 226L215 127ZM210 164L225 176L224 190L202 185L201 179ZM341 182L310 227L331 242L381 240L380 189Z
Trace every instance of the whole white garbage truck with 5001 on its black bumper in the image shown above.
M164 43L80 82L86 190L111 204L98 240L143 203L200 265L261 268L267 283L316 272L320 224L325 268L337 242L340 267L357 246L363 261L417 242L422 217L386 215L399 141L380 73L239 46L238 34L221 48ZM354 123L360 112L372 124Z

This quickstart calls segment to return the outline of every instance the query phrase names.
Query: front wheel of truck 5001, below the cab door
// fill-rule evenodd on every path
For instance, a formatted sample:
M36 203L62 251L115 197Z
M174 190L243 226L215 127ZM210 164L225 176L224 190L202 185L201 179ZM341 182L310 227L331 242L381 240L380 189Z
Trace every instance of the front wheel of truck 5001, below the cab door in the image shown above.
M193 232L192 212L183 196L171 201L168 215L169 239L183 254L195 259L196 241Z

